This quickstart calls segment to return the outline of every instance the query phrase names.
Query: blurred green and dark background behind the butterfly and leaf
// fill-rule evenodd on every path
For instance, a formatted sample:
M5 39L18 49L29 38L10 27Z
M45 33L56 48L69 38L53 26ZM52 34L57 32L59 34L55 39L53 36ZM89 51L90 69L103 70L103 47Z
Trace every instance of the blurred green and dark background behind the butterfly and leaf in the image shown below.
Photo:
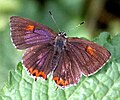
M17 51L11 42L10 16L26 17L58 32L48 13L51 10L68 36L92 39L103 31L112 35L120 32L119 9L119 0L0 0L0 88L24 52ZM85 24L75 28L82 21Z

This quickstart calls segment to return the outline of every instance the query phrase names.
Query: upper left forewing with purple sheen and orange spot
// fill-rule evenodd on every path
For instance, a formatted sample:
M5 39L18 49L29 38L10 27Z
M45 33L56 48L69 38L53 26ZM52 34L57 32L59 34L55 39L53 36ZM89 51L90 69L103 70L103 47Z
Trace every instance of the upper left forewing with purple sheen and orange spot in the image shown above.
M47 26L18 16L10 18L10 28L11 37L17 49L50 43L57 35Z

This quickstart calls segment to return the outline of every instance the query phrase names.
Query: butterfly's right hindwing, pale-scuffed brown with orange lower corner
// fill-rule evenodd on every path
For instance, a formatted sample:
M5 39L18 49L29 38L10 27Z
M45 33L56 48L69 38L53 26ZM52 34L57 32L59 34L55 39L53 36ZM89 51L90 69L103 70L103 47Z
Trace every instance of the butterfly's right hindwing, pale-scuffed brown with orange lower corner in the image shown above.
M77 84L82 76L78 62L70 51L63 51L58 66L53 72L53 80L60 87Z

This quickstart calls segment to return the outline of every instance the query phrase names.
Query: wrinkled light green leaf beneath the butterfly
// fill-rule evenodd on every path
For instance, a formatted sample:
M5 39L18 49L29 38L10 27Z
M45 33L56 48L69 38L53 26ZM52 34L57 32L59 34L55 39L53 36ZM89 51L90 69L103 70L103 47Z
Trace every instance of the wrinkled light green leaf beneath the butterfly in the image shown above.
M52 80L37 81L18 63L9 72L8 82L0 91L0 100L119 100L120 99L120 35L101 33L95 42L106 47L111 60L96 74L82 77L76 86L60 89Z

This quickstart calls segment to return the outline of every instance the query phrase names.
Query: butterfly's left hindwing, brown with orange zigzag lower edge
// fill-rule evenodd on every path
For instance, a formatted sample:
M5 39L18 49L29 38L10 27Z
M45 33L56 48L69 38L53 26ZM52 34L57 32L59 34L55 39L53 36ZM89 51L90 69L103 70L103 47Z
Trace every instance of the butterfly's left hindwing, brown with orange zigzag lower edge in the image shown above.
M52 55L53 47L51 45L33 46L26 50L23 56L23 64L33 76L47 79L47 75L52 70Z

